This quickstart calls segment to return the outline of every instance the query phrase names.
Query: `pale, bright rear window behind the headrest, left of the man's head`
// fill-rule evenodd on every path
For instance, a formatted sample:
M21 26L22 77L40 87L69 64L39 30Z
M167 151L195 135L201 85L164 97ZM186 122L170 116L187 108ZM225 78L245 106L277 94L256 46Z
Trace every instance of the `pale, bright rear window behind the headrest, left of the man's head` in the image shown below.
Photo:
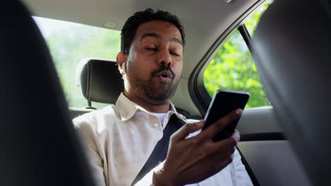
M120 31L61 20L33 17L49 46L68 105L87 106L76 85L76 68L83 58L115 60L120 51ZM105 104L92 103L101 108Z

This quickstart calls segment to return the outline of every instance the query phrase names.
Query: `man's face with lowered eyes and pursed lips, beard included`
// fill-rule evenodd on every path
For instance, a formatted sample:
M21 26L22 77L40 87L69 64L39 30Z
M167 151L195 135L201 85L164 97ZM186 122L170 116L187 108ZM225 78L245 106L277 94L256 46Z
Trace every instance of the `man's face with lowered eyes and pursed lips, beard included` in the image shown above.
M170 101L182 73L182 37L163 21L141 24L127 56L127 93L152 104Z

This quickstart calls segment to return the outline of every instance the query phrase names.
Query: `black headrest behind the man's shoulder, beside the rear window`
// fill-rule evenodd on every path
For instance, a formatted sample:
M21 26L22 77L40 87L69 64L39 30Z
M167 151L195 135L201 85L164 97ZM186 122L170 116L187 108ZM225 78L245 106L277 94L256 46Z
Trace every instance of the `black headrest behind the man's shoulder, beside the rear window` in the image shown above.
M76 82L88 101L115 104L124 82L115 61L86 58L76 70Z

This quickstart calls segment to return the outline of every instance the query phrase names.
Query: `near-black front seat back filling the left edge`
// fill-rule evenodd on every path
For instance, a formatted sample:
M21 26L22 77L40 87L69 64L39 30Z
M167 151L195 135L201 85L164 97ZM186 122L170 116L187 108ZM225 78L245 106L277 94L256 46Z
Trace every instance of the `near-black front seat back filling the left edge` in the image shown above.
M11 0L0 24L0 185L95 185L33 18Z

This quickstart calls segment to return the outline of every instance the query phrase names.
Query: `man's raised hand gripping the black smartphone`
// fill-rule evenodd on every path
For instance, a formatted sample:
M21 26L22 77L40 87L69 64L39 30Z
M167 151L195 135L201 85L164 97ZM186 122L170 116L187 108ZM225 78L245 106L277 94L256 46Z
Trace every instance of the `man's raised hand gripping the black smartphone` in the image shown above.
M217 120L198 135L186 139L190 133L202 129L204 122L187 124L170 138L168 156L163 168L153 174L153 184L185 185L200 182L228 166L239 141L236 131L232 137L212 142L211 137L221 132L243 111L237 109Z

